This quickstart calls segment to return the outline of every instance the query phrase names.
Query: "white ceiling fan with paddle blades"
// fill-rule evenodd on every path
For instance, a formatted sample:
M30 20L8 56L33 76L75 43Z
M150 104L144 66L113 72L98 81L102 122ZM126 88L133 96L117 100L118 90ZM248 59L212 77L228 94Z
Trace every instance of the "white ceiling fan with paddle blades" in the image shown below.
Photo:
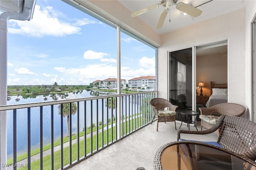
M162 14L160 15L158 23L156 25L156 29L159 29L164 24L164 20L165 20L167 14L169 12L170 6L175 5L177 10L180 10L180 11L182 11L182 12L184 12L184 13L192 16L192 17L198 17L202 14L201 10L199 10L199 9L193 7L193 6L190 6L190 5L185 4L183 2L178 2L178 3L177 2L178 2L178 0L161 0L160 3L154 4L154 5L148 6L147 8L144 8L142 10L136 11L136 12L132 13L131 16L136 17L136 16L139 16L141 14L144 14L145 12L157 9L160 6L164 6L166 8L162 11Z

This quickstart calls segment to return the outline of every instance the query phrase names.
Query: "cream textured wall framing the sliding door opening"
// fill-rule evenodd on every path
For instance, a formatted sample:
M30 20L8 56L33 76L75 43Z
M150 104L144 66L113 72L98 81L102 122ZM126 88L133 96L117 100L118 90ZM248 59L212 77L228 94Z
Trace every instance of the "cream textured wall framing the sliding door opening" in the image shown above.
M168 54L228 40L228 102L245 104L245 9L236 10L162 35L158 48L158 95L168 97ZM161 76L160 76L161 75Z

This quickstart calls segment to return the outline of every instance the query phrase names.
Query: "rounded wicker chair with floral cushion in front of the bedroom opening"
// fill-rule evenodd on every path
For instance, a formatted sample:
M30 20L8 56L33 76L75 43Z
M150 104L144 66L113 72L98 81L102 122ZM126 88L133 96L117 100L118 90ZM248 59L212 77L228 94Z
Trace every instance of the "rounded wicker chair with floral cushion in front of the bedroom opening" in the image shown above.
M215 115L217 118L220 115L230 115L230 116L240 117L241 115L244 114L245 107L235 103L222 103L209 108L199 108L199 110L201 112L201 115L206 115L206 116ZM206 129L210 129L213 126L214 124L204 121L204 119L201 120L201 131L202 131L202 127L205 127ZM219 129L217 129L215 133L218 134Z

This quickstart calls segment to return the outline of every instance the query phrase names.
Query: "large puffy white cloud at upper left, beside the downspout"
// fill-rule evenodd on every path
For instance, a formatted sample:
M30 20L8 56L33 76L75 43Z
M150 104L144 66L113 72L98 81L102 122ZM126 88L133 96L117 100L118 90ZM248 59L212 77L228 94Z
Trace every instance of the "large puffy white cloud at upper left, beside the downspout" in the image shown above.
M32 37L65 36L77 34L81 28L72 25L72 23L60 21L56 18L58 12L52 7L46 7L40 10L40 6L36 5L33 19L30 21L10 20L8 28L9 33L28 35Z

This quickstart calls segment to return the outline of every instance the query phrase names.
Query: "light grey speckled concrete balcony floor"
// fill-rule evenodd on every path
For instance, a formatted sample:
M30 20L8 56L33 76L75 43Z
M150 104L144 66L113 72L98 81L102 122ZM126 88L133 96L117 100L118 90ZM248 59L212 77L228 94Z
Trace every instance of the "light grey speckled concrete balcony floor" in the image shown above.
M180 127L180 122L176 122L177 130L175 130L174 122L160 122L158 131L156 131L156 124L157 122L154 121L113 145L74 164L68 170L136 170L138 167L153 170L156 151L166 143L177 141L177 131ZM200 130L200 125L197 128ZM180 129L188 130L188 127L186 124L182 124ZM196 130L196 128L190 125L190 130ZM215 133L209 135L184 134L181 138L217 141L218 136Z

